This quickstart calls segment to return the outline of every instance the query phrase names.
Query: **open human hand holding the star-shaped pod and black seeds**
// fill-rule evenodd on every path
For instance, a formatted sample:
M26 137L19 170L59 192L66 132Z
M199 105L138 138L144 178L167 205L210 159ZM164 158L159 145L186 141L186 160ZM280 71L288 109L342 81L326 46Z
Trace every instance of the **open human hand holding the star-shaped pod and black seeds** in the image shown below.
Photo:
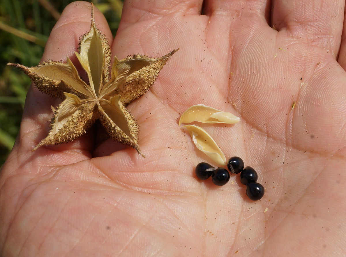
M210 0L201 15L197 0L125 1L114 40L95 10L112 57L180 48L128 105L146 158L95 142L97 126L32 152L61 100L31 86L0 174L1 256L345 256L344 3ZM76 63L90 18L90 4L67 6L42 60ZM196 164L216 164L177 124L194 104L241 117L200 125L257 171L260 201L239 175L197 179Z

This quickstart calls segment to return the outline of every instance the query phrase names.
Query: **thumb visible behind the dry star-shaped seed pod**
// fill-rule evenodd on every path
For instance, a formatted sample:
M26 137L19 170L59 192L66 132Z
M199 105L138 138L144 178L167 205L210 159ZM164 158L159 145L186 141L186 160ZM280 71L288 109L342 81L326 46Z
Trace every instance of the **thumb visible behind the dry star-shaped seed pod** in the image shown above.
M111 40L112 35L106 19L96 8L94 13L97 26ZM79 38L90 30L90 24L90 3L80 1L69 4L49 36L42 60L66 62L66 56L69 56L71 60L74 60L75 65L78 64L74 51L78 51ZM78 67L78 65L76 66ZM51 105L56 107L59 102L61 102L60 99L52 98L33 87L30 88L19 135L21 145L24 146L23 151L30 150L31 152L31 149L46 137L49 131L49 121L53 116ZM63 144L57 147L61 150L64 147L89 150L91 144L92 140L76 140L68 145ZM40 151L40 148L37 151Z

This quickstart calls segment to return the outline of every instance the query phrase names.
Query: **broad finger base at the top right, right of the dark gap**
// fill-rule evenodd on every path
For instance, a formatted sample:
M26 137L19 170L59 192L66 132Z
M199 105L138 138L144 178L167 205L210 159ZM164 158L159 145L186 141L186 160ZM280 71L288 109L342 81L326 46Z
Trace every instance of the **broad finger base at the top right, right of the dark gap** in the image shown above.
M289 36L325 48L336 58L343 28L344 0L274 0L272 24Z

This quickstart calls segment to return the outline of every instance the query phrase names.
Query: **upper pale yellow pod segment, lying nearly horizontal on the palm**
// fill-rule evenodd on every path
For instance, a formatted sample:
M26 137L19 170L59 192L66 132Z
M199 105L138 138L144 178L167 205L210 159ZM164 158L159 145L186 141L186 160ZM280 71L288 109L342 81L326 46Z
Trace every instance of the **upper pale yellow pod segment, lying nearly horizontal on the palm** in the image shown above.
M229 112L222 112L204 104L197 104L192 105L181 115L179 126L181 123L191 123L193 121L234 124L239 122L240 118Z

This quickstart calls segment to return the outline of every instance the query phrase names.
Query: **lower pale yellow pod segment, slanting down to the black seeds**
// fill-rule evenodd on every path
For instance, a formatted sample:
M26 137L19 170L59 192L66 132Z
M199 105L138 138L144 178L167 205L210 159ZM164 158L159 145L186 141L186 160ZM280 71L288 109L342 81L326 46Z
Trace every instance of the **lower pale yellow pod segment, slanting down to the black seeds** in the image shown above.
M219 165L226 165L225 154L221 151L220 147L216 144L213 138L203 128L195 125L185 125L189 131L193 143L199 150L207 154Z

